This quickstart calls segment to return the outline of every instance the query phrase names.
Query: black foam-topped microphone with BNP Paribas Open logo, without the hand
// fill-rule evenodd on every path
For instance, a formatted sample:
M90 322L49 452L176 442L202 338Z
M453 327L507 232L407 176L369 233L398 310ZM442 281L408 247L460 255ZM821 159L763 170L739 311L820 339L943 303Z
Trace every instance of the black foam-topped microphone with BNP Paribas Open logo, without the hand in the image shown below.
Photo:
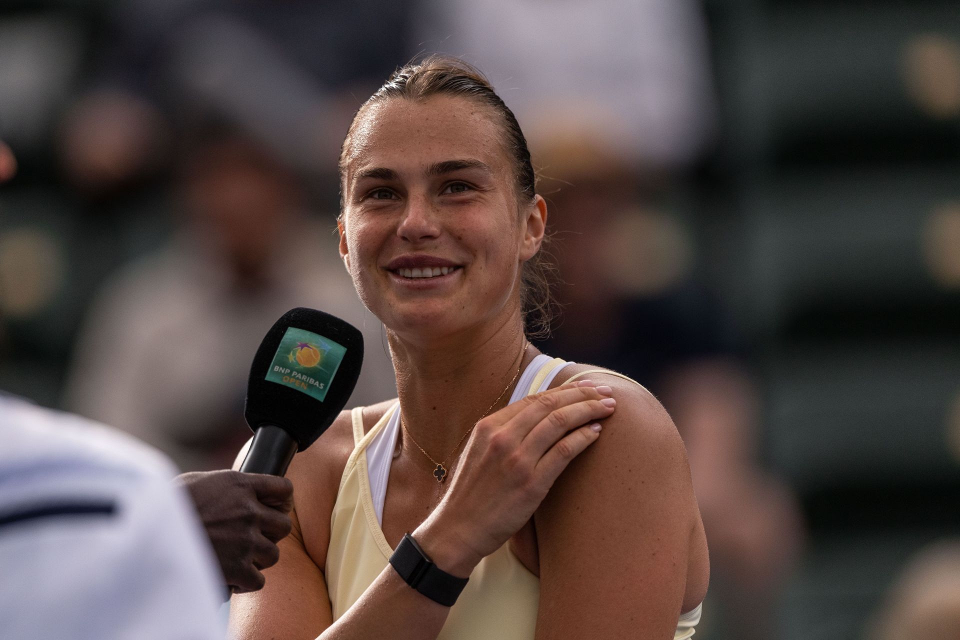
M362 364L363 335L348 322L304 307L276 320L253 356L244 410L253 441L240 470L285 474L343 410Z

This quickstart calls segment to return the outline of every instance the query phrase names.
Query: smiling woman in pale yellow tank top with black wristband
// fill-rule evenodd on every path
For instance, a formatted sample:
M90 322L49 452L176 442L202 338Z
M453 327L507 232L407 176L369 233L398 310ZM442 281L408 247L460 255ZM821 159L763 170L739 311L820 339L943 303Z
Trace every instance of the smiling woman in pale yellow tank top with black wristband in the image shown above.
M513 114L467 64L426 59L359 109L340 172L341 254L399 397L295 458L294 531L231 631L688 637L708 558L673 423L526 341L547 211Z

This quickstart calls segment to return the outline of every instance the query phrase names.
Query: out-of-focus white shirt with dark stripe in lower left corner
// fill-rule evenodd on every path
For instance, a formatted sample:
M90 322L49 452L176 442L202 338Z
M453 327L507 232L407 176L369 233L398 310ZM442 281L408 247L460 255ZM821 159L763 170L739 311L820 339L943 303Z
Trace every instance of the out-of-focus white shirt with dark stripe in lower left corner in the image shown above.
M220 572L171 462L0 395L0 638L222 639Z

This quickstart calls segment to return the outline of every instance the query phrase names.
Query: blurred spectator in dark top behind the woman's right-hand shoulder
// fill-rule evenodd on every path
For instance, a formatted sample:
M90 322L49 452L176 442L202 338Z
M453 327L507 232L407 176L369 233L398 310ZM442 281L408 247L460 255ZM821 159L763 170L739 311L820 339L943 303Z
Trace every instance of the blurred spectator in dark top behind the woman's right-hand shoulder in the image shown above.
M664 178L601 139L585 121L535 141L564 283L561 320L538 344L622 371L660 399L689 455L717 587L709 604L733 637L775 636L803 539L799 506L757 462L756 389L719 300L695 279L684 225L657 204Z

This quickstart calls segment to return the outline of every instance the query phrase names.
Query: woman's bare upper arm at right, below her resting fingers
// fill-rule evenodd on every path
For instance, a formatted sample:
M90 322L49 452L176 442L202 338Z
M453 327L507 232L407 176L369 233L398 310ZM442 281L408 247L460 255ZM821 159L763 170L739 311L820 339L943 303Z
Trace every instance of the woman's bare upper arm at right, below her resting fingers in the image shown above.
M684 444L649 392L590 377L613 388L617 410L535 515L537 638L672 638L708 580Z

